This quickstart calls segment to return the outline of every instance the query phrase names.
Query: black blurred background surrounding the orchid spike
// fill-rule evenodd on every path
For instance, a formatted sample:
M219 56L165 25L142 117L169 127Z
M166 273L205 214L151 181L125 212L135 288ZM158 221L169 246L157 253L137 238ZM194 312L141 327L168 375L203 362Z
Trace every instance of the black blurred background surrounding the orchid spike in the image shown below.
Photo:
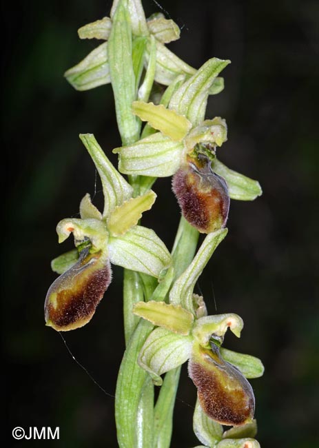
M318 427L318 2L161 0L183 27L170 45L198 68L209 57L231 59L225 90L211 97L207 116L223 116L229 141L219 152L229 167L258 179L264 194L231 202L229 236L200 278L209 313L236 312L245 329L226 346L258 356L263 378L256 394L263 447L314 447ZM144 1L147 14L158 11ZM6 446L116 447L114 398L96 387L44 326L43 301L55 278L50 260L59 247L56 223L76 216L95 170L78 139L93 132L107 156L120 145L110 85L76 92L63 72L97 44L76 30L110 12L110 1L9 2L3 89L6 230L2 285ZM2 28L3 29L3 28ZM317 134L318 135L318 134ZM145 214L172 247L179 210L169 179L156 183L158 200ZM102 203L101 187L94 201ZM70 238L71 240L71 238ZM64 334L77 360L110 394L123 354L122 272L90 325ZM315 353L317 350L317 354ZM198 445L192 433L196 390L183 369L172 447ZM317 409L316 409L317 408ZM60 427L59 441L13 442L12 428Z

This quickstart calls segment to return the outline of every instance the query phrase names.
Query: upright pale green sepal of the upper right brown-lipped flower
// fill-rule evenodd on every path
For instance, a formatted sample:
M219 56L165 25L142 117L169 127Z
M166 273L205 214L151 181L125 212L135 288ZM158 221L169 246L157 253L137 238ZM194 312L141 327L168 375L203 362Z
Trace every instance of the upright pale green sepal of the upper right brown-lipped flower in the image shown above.
M217 75L229 63L230 61L223 61L223 59L209 59L172 96L169 108L185 115L193 125L201 123L205 117L209 89Z

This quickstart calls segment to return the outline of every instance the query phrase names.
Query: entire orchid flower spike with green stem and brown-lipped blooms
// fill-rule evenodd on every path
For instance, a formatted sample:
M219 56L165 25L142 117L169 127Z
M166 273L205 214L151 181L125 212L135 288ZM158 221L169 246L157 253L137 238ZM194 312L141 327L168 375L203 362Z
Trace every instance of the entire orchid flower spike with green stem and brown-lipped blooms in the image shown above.
M115 0L110 18L83 26L79 37L105 43L65 77L77 90L112 83L122 146L113 151L119 154L118 171L93 134L80 135L101 178L104 210L86 194L80 218L65 218L57 225L59 242L73 234L75 249L52 261L52 269L61 275L45 299L46 324L58 331L82 327L110 285L111 263L135 272L136 296L130 280L124 294L131 297L125 299L131 326L116 390L123 407L116 405L119 445L151 446L143 445L145 422L141 430L135 429L143 422L145 388L150 379L163 385L163 396L174 407L174 387L169 391L165 381L188 360L198 393L194 432L203 446L258 447L255 398L247 378L261 376L263 365L254 356L223 347L227 329L239 337L243 320L236 314L207 316L203 297L194 294L200 274L227 234L230 199L251 201L261 194L257 181L217 159L217 147L227 141L225 120L205 119L207 99L223 90L218 75L229 61L212 58L198 70L187 65L165 46L179 37L176 23L163 14L145 19L140 0ZM156 200L150 188L157 177L166 176L172 176L183 215L172 254L153 230L141 225L143 212ZM182 238L187 229L189 247L196 247L198 232L206 234L189 262ZM132 390L123 383L129 366L134 370L132 383L136 378ZM158 403L155 413L164 406L161 394ZM222 425L233 428L223 431ZM154 447L169 446L171 426L154 426Z

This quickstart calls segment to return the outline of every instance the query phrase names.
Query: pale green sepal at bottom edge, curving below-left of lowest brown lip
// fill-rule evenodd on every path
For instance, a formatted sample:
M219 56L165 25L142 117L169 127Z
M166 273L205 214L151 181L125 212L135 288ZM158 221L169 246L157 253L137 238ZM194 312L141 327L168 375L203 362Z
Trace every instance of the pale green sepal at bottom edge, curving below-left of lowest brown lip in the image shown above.
M222 440L223 426L209 418L200 407L198 398L196 401L193 429L196 437L207 447L215 447Z

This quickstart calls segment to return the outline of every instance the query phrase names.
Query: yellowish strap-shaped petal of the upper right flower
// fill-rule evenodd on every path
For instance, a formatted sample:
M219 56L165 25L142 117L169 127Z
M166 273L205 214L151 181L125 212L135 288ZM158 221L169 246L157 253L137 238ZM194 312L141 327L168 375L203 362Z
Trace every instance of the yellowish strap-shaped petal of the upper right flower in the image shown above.
M192 128L192 123L185 116L174 110L166 109L162 104L134 101L132 110L142 121L148 121L152 128L174 141L181 141Z

